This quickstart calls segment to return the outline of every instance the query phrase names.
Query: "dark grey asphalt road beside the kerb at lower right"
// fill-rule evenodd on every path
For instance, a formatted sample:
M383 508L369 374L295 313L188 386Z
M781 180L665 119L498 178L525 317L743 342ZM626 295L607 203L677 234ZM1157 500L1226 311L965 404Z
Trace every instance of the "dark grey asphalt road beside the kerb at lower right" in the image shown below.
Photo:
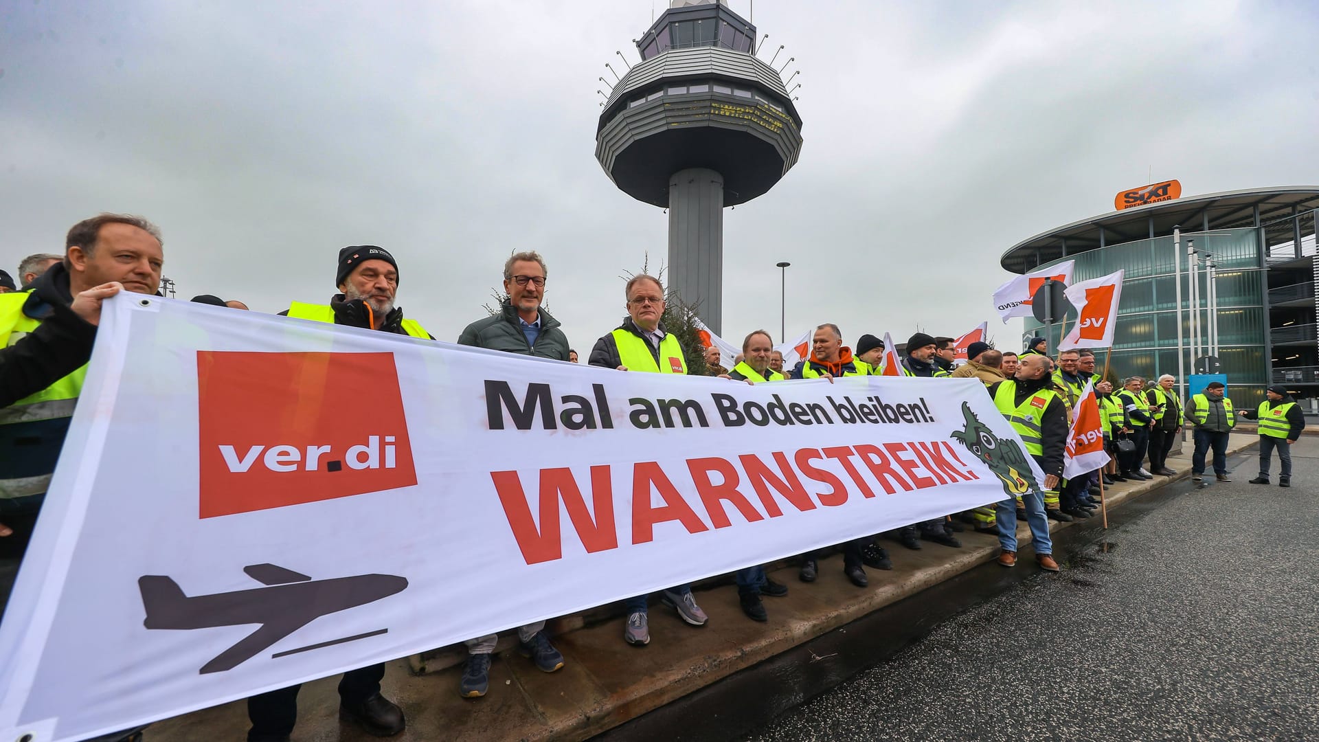
M744 739L1319 738L1319 438L1256 450Z

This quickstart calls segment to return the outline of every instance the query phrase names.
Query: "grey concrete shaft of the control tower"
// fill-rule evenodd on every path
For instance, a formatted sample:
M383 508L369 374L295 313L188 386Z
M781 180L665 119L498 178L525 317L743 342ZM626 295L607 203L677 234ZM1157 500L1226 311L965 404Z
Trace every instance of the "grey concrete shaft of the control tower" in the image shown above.
M708 168L669 178L669 287L723 334L724 177Z

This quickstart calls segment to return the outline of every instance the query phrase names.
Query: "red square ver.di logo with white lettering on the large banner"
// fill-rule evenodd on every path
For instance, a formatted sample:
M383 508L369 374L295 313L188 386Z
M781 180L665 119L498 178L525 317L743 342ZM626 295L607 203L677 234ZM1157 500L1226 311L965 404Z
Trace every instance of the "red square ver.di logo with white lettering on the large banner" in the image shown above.
M200 518L417 483L390 353L198 351Z

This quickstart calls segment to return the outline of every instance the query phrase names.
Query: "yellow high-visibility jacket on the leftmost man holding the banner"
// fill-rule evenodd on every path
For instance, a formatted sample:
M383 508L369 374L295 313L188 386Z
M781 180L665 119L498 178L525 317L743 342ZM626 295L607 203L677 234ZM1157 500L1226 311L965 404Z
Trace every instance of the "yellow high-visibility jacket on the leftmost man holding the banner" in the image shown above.
M12 346L41 325L41 320L22 313L30 293L0 294L0 346ZM0 409L0 445L5 449L0 499L46 494L86 376L84 364L40 392Z

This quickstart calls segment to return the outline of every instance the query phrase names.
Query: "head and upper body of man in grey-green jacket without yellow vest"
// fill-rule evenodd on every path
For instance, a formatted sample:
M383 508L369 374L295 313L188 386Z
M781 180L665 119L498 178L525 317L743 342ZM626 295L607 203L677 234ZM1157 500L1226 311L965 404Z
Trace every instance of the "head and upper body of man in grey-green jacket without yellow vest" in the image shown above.
M459 345L570 360L568 338L559 321L541 306L545 300L545 260L538 252L516 252L504 261L504 293L499 314L477 320L458 337Z

